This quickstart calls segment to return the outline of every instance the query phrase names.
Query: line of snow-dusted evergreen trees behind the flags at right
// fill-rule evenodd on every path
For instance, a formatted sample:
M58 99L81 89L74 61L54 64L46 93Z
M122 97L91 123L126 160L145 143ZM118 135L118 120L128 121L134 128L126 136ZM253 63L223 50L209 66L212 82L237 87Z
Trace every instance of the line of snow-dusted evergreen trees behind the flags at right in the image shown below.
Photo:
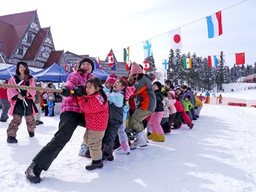
M183 59L191 57L192 68L183 67ZM154 58L152 59L154 61ZM153 62L152 62L153 63ZM151 64L151 62L150 62ZM152 69L155 68L152 67ZM150 68L151 69L151 68ZM229 68L225 65L225 55L220 52L218 67L209 67L208 58L196 56L194 52L182 54L180 49L170 50L169 65L167 70L168 79L174 84L188 84L193 90L211 90L217 85L218 90L223 90L222 84L234 83L239 77L256 74L256 62L252 65L234 65Z

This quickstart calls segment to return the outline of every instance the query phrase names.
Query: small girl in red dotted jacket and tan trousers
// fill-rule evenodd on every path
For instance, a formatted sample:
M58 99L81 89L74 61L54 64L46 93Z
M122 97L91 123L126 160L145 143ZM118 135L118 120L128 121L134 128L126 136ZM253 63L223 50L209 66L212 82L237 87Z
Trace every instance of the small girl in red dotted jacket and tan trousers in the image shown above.
M108 97L103 91L100 79L94 77L86 82L86 96L77 97L78 104L84 111L86 132L84 142L90 150L92 163L86 170L102 168L101 143L108 125Z

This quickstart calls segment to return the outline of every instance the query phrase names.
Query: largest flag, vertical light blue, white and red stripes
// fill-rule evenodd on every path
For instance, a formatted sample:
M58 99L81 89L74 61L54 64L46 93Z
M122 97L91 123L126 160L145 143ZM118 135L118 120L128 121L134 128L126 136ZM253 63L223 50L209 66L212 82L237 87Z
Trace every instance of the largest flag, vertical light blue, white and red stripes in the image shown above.
M222 35L221 11L206 17L208 38Z

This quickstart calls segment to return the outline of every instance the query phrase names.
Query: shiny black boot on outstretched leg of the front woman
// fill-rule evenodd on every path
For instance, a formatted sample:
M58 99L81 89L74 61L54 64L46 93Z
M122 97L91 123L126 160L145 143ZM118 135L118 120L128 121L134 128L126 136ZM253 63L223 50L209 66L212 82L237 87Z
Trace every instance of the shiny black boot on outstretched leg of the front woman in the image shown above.
M41 181L40 174L42 170L43 168L39 164L32 162L25 172L27 179L30 182L39 183Z

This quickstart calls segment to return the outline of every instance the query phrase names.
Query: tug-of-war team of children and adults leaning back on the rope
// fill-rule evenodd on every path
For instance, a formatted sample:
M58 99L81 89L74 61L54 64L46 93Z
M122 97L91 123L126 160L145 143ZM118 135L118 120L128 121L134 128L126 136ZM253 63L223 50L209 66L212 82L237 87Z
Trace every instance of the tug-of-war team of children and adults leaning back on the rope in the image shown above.
M181 127L184 121L190 129L193 128L188 116L193 108L188 107L189 111L185 111L182 106L184 102L191 101L191 94L186 86L177 86L175 92L167 88L167 97L165 95L164 99L161 83L154 82L152 85L154 79L148 74L143 74L143 67L137 63L132 63L128 77L116 79L116 76L111 75L104 86L99 79L92 77L93 69L93 61L84 58L80 61L77 71L68 77L65 87L62 88L64 98L59 130L26 170L26 177L31 182L40 182L40 173L42 170L48 170L72 137L77 125L86 127L79 151L81 156L92 158L92 163L85 167L86 170L102 168L102 160L113 161L116 143L120 143L117 150L129 154L130 148L147 146L148 137L154 141L164 141L164 131L161 127L164 115L163 100L172 100L175 106L175 115L173 112L170 114L168 107L168 120L172 116L173 127ZM74 93L71 94L70 90ZM182 93L185 96L182 96ZM195 111L191 114L196 118ZM149 127L152 134L147 136L143 120L150 115ZM128 135L134 137L131 144Z

